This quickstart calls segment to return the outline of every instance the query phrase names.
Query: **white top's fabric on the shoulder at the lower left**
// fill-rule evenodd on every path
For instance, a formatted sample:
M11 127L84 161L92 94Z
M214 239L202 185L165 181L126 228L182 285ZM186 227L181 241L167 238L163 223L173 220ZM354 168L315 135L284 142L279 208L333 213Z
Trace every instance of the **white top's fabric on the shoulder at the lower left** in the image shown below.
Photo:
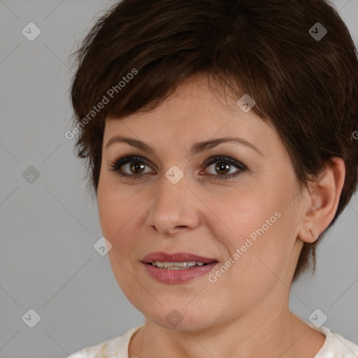
M122 336L111 338L108 341L83 348L78 352L73 353L67 358L119 358L128 357L128 345L131 337L143 327L139 324L136 327L129 329Z

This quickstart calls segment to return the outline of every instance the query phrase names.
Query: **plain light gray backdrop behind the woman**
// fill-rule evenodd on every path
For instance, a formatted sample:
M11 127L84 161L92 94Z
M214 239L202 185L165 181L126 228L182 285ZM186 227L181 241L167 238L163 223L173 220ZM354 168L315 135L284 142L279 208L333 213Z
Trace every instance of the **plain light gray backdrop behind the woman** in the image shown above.
M1 358L66 357L143 322L108 257L93 248L101 237L96 202L64 136L69 54L113 3L0 0ZM358 0L334 3L358 45ZM29 22L41 29L34 41L22 34ZM32 183L22 176L29 166L40 173ZM319 246L317 273L293 285L290 298L303 320L320 308L324 326L356 344L357 216L356 194ZM30 308L41 316L32 329L22 320Z

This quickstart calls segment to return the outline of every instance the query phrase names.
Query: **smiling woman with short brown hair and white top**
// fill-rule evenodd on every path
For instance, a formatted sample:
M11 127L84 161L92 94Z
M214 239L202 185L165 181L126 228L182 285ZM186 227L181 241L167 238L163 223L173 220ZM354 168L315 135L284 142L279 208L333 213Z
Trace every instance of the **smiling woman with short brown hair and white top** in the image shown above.
M145 324L71 357L357 357L288 304L357 189L357 50L334 8L124 0L77 59L69 135Z

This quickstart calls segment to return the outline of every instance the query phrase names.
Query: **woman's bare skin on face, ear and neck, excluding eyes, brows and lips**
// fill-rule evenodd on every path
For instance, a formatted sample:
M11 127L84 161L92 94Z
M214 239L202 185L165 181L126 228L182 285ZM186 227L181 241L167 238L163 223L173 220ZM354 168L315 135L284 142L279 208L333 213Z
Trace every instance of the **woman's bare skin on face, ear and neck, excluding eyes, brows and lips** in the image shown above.
M156 154L127 143L106 144L113 136L141 140ZM259 148L221 143L190 155L193 143L238 136ZM127 299L145 315L145 327L129 345L129 357L314 357L324 336L289 311L289 287L303 241L313 242L331 222L343 186L345 166L334 158L320 181L300 189L292 162L278 134L236 101L219 101L206 76L182 83L150 113L106 118L97 192L103 236L115 279ZM146 159L146 176L110 171L120 157ZM248 167L235 178L210 157L224 156ZM165 173L184 173L173 184ZM208 274L171 285L148 275L140 259L150 252L192 252L222 266L275 212L280 218L257 237L216 282ZM311 236L313 229L315 236ZM210 273L215 272L210 271ZM182 317L173 327L171 310Z

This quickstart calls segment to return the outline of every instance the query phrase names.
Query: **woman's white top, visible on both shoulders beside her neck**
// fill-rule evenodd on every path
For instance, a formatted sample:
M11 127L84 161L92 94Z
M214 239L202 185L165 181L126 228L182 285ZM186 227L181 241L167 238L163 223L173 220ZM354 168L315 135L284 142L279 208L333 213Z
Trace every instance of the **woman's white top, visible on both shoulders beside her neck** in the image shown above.
M306 322L310 327L316 329L326 336L326 341L322 348L314 358L357 358L358 345L343 338L340 334L332 333L327 327L316 328L310 322ZM97 345L92 345L88 348L83 348L67 358L130 358L128 356L128 346L131 337L136 331L143 327L144 324L139 324L136 327L129 329L122 336L111 338Z

